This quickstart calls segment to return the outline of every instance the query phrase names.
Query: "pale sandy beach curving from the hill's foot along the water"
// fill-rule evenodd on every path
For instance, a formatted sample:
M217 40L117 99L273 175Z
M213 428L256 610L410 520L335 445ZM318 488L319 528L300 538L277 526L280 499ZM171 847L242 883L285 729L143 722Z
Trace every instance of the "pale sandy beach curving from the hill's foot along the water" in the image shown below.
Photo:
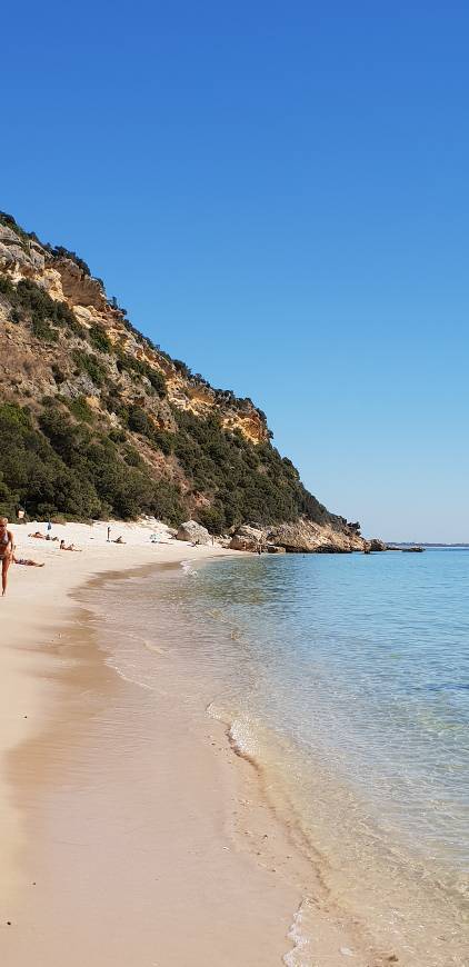
M223 726L179 706L169 678L157 697L121 680L74 597L110 571L228 552L154 521L112 525L126 546L104 524L54 526L81 554L13 529L17 556L46 567L12 565L0 605L0 963L338 967L350 945L358 967L378 963L315 908L313 867ZM313 949L291 931L301 904Z

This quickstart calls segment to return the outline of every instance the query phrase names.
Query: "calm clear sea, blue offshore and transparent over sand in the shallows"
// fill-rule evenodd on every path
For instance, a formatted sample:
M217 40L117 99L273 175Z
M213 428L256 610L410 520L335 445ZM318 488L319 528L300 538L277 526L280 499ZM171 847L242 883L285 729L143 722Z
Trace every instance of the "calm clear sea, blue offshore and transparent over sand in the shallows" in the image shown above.
M110 664L158 691L183 660L325 901L408 967L469 963L468 590L469 551L439 549L187 562L101 599Z

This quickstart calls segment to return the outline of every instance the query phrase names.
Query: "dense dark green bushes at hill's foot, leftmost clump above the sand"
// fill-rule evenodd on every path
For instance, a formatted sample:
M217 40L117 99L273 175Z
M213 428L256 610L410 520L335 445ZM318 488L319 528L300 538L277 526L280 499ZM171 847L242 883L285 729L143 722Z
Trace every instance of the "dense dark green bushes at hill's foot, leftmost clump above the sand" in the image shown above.
M77 520L154 514L179 522L184 516L177 488L152 479L131 450L94 432L86 420L71 420L53 401L39 426L27 408L0 406L0 509L10 517L17 506L31 517Z

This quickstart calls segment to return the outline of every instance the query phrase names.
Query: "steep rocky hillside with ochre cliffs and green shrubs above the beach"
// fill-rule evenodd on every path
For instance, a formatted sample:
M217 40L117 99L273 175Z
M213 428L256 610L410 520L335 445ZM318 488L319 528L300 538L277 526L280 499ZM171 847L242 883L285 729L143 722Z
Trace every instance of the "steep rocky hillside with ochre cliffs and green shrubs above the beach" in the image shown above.
M362 546L358 526L329 514L272 447L251 399L191 373L81 258L4 213L0 339L2 514L193 517L216 534L288 525L291 547L298 524L305 549Z

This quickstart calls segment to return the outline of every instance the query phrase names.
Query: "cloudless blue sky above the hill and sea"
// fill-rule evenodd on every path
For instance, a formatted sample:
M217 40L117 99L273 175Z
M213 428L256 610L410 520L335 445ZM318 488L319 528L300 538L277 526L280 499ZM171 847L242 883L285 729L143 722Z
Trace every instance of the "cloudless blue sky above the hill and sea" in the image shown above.
M468 44L462 0L2 10L0 208L367 535L469 541Z

